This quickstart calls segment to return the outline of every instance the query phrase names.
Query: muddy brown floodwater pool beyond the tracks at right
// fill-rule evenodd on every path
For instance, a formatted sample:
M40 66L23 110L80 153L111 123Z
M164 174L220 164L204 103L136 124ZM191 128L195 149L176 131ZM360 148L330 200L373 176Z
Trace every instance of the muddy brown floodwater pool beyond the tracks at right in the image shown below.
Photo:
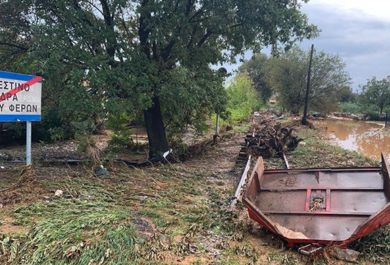
M317 127L327 128L327 136L347 150L373 159L381 159L381 152L385 152L390 159L390 131L382 130L383 125L336 119L316 120L313 123Z

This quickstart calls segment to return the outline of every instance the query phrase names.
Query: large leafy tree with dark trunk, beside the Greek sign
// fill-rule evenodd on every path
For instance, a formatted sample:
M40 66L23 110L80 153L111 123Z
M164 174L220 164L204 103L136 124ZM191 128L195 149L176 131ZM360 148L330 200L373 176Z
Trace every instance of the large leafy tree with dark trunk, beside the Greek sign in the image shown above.
M317 33L300 7L298 0L0 0L10 21L0 23L7 33L0 62L25 54L24 65L56 96L66 90L64 98L80 101L73 111L88 112L87 102L103 113L143 110L155 156L169 148L167 126L197 122L226 102L211 65Z

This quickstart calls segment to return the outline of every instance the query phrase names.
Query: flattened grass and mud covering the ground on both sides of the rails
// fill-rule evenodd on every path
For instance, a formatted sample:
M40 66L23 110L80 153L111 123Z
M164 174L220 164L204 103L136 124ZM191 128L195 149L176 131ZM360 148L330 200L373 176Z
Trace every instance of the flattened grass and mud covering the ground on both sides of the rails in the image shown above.
M283 126L303 138L287 153L293 167L378 165L326 143L320 131ZM101 177L75 167L48 176L42 165L36 166L44 194L31 189L34 196L28 201L0 210L0 264L306 264L296 249L287 249L249 220L240 202L233 213L226 211L244 167L235 161L246 129L247 124L234 128L196 159L173 165L106 165L110 176ZM266 159L266 165L275 161ZM63 193L56 196L57 190ZM388 261L388 231L381 229L353 245L366 253L360 264ZM337 262L334 257L330 261Z

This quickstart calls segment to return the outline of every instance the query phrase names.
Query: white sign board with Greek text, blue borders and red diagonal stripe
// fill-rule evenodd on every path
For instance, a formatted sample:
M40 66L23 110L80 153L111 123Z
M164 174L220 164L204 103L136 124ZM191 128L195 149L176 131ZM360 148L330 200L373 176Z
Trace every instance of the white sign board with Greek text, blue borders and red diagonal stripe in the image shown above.
M0 122L41 121L42 78L0 71Z

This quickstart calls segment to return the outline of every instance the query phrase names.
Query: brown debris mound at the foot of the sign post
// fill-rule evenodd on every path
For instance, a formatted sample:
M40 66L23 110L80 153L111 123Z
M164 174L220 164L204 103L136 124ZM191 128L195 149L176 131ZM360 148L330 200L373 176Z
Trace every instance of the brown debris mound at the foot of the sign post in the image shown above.
M27 166L20 173L19 180L15 184L0 190L0 204L10 205L27 200L32 196L36 196L41 189L32 167Z

